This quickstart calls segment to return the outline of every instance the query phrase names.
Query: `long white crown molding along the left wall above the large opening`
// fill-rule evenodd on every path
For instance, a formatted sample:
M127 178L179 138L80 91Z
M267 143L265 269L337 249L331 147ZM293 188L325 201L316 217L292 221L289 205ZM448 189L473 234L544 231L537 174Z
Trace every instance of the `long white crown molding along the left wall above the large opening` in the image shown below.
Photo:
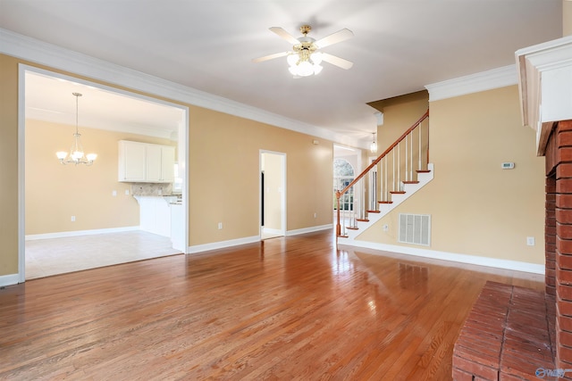
M48 67L97 79L116 86L128 87L150 95L162 96L175 102L192 104L216 112L224 112L248 120L255 120L274 127L290 129L302 134L322 137L335 143L364 145L357 139L337 134L327 128L292 120L273 112L240 104L222 96L212 95L192 87L160 79L141 71L131 70L106 62L87 54L80 54L61 46L22 36L7 29L0 29L0 53Z

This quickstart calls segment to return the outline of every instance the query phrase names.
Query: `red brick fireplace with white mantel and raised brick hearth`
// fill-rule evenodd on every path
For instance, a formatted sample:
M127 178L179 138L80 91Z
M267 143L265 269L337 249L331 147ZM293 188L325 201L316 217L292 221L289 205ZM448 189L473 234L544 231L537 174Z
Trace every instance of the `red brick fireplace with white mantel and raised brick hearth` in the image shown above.
M487 283L455 344L456 381L572 380L572 36L515 55L523 124L546 162L545 292Z

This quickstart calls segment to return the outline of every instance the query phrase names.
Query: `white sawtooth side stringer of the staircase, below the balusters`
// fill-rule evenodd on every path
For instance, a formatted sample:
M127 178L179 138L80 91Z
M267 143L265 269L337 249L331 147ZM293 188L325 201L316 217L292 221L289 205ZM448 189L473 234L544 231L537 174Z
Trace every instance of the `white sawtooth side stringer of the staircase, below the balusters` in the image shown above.
M415 195L416 192L421 189L422 187L426 186L433 180L433 163L427 164L427 170L429 172L422 172L417 173L417 184L404 184L403 190L405 191L404 194L395 194L391 195L391 202L392 203L380 203L379 204L379 213L368 213L367 219L368 221L357 221L357 230L350 230L346 229L346 236L339 236L338 237L338 244L349 244L360 234L365 232L368 228L374 226L374 224L383 219L390 211L393 211L397 208L401 203L407 200L412 195Z

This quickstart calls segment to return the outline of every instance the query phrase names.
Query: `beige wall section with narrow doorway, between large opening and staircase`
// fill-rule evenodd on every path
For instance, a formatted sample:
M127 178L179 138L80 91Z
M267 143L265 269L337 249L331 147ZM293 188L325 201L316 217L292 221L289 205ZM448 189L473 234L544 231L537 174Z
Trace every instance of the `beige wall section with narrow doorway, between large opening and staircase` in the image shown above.
M287 156L286 229L332 223L332 142L194 106L189 126L189 245L259 234L260 150Z

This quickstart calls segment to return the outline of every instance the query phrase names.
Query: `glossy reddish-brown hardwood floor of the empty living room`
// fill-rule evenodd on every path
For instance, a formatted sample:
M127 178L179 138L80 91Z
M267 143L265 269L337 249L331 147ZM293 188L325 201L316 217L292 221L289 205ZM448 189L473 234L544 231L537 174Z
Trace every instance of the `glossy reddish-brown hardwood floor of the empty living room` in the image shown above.
M486 280L543 289L373 253L324 232L5 287L0 379L448 380Z

